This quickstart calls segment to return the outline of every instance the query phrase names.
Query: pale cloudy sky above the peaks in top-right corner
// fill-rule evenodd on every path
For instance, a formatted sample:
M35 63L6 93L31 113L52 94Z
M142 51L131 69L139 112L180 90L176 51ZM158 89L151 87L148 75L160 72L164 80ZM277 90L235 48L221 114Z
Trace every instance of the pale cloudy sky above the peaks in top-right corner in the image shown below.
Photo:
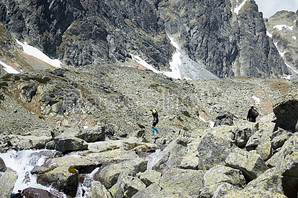
M255 2L264 18L269 18L281 10L293 12L298 10L298 0L255 0Z

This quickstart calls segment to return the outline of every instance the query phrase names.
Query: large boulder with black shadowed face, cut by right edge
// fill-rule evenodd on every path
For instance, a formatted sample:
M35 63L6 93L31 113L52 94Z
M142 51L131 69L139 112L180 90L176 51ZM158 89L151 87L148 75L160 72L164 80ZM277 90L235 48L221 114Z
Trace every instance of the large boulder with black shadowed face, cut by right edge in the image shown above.
M293 133L298 131L298 89L288 91L278 103L273 105L273 112L277 117L276 130L280 127Z

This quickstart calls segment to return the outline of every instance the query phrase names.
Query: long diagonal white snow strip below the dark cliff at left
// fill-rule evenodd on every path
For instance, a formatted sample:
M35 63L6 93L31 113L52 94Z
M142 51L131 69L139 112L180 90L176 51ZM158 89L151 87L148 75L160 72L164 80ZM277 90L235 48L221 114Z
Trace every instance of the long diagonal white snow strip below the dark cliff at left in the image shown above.
M39 51L36 47L33 47L31 45L28 45L27 42L21 43L20 41L18 41L17 39L15 39L17 44L21 45L23 47L23 51L30 55L33 56L35 58L38 58L39 60L42 60L43 62L46 62L54 67L59 67L61 68L61 61L59 61L58 59L51 59L49 58L47 55L43 54L41 51Z

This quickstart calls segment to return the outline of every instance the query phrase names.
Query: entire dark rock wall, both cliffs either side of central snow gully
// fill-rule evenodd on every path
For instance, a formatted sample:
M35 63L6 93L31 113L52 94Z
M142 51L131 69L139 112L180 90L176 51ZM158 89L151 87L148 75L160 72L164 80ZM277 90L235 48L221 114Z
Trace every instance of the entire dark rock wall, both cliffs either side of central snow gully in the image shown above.
M169 36L219 78L289 73L254 0L4 0L0 20L16 38L75 67L124 64L133 54L170 70Z

